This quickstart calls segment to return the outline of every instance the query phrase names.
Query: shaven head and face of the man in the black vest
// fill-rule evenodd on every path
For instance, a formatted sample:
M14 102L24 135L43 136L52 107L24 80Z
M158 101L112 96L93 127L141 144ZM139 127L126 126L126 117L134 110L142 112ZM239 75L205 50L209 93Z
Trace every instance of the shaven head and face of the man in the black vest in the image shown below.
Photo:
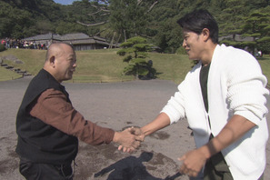
M76 67L76 56L72 45L57 43L49 46L44 69L61 83L72 78Z

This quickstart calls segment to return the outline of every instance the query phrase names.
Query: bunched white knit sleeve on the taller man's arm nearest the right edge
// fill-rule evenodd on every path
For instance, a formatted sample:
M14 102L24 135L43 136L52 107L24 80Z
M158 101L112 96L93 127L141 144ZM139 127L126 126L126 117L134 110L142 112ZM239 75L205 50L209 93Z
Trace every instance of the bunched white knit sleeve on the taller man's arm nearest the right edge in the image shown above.
M240 60L239 60L240 59ZM227 100L234 115L242 115L258 125L268 113L265 106L266 95L269 91L265 88L267 79L262 74L260 65L251 55L243 55L227 71Z

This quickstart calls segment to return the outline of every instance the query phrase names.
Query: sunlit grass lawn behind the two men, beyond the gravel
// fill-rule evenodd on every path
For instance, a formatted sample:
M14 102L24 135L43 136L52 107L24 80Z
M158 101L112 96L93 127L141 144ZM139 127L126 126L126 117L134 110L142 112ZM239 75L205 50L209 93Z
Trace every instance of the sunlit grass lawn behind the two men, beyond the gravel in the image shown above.
M122 71L127 64L123 62L122 56L116 55L116 51L117 49L77 51L77 68L73 79L68 82L101 83L134 80L133 76L122 75ZM32 75L38 73L45 61L44 50L8 49L0 52L0 57L6 55L14 55L24 64L15 64L13 61L4 60L5 64L26 70ZM193 61L190 61L187 55L150 53L147 60L149 59L153 61L158 79L172 80L175 84L184 80L186 73L193 65ZM270 79L269 55L258 58L258 62L262 66L267 79ZM0 81L19 77L20 75L15 74L15 72L0 67Z

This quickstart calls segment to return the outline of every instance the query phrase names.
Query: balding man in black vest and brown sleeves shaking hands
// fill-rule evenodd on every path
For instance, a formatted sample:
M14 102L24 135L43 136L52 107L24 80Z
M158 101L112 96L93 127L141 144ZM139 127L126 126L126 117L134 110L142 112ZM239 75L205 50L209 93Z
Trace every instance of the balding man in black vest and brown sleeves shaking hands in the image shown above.
M90 145L116 142L133 151L140 144L132 129L122 132L95 125L75 110L65 86L76 67L71 45L53 44L45 65L30 82L16 117L16 152L27 180L73 179L78 139Z

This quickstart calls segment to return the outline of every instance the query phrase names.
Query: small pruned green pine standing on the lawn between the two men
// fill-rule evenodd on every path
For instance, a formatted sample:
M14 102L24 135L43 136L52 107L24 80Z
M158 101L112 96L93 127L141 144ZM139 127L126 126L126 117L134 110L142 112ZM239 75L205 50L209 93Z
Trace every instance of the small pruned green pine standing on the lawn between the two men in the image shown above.
M134 75L136 78L155 77L155 69L152 67L151 61L146 62L147 52L152 49L152 45L146 44L143 37L135 36L127 39L121 44L122 49L117 51L117 55L125 56L123 61L128 63L125 66L125 75Z

